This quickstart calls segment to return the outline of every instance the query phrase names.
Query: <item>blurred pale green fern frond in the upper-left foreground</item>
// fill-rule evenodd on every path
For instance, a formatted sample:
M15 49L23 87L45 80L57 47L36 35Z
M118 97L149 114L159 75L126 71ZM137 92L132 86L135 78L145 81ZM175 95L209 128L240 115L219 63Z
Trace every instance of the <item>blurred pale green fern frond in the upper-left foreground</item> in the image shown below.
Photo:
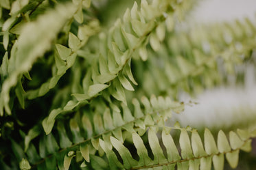
M67 8L67 12L63 12ZM65 11L65 10L64 10ZM71 4L58 5L55 10L40 16L38 20L28 23L23 27L19 40L12 47L12 53L8 64L8 78L3 82L0 97L0 115L3 116L3 109L11 114L9 107L10 89L19 81L19 77L32 67L32 63L42 56L50 47L50 42L56 38L56 33L69 20L75 8ZM58 20L58 22L56 22ZM51 30L51 33L47 33ZM34 36L30 36L33 34ZM47 35L47 36L45 36ZM35 46L36 45L36 46Z

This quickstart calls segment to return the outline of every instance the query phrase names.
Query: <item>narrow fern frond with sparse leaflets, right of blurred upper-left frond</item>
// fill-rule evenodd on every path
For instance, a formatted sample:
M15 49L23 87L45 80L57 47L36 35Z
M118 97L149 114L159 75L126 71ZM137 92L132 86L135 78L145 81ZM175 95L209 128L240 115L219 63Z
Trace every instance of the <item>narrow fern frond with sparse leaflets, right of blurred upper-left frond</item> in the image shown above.
M47 82L40 85L38 89L27 91L25 94L26 98L30 100L38 98L45 95L50 89L56 86L60 78L67 72L69 68L71 68L71 66L73 66L73 63L77 57L77 51L79 51L80 48L86 44L87 40L100 29L100 26L97 24L97 20L92 20L88 25L78 27L78 37L69 32L69 47L61 44L55 44L55 64L52 68L52 77L48 79Z

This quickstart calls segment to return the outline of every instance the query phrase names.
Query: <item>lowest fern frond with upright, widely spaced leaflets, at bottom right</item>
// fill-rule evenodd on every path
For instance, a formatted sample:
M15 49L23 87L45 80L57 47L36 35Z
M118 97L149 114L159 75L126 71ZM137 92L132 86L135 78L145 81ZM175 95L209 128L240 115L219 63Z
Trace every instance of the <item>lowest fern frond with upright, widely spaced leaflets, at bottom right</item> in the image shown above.
M106 147L106 143L100 140L100 145L106 152L110 169L211 169L213 163L214 169L224 169L224 156L232 168L237 167L238 155L240 150L249 152L251 150L251 137L255 137L255 132L250 130L240 130L229 132L229 141L222 130L218 132L218 138L215 141L213 134L206 128L204 133L204 143L197 130L192 130L191 137L187 130L181 129L179 136L179 147L174 143L170 134L171 128L163 127L161 141L156 136L158 130L150 128L148 131L148 143L154 156L154 159L148 156L148 150L143 140L137 133L132 133L132 141L137 149L139 160L132 158L129 150L115 137L110 137L110 142L115 150L121 156L118 160L113 150ZM164 154L165 153L165 154ZM113 162L113 159L118 162Z

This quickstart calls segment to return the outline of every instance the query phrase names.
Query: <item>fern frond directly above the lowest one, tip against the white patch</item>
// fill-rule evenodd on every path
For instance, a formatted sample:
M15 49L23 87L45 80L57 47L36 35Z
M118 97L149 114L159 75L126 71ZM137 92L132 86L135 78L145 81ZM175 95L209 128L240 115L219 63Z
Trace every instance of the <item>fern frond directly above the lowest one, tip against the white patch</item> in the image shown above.
M88 111L76 113L75 117L70 119L69 126L65 126L62 123L63 120L60 119L57 125L58 143L56 143L56 139L53 138L52 134L50 136L49 134L47 136L43 135L40 139L42 146L39 146L40 157L46 160L49 156L52 157L62 152L67 154L70 151L74 151L80 152L84 160L90 162L90 153L98 151L100 155L104 154L99 143L101 139L104 140L107 147L112 149L110 137L115 137L124 142L126 139L124 131L128 132L128 134L138 132L143 135L150 126L156 124L164 126L165 120L172 116L173 111L179 113L183 111L184 107L183 103L173 102L170 98L156 98L155 96L152 96L150 100L143 97L141 102L143 107L138 100L133 100L133 115L125 104L121 104L122 111L112 104L110 105L111 111L104 106L105 111L102 114L96 113L91 116L92 114L88 113ZM68 136L67 132L70 132L71 136ZM26 139L33 139L34 137L35 132L29 132ZM30 141L25 146L28 146ZM48 150L47 145L50 145L50 142L52 143L52 148ZM58 151L59 148L61 149L60 151ZM35 165L37 166L37 163Z

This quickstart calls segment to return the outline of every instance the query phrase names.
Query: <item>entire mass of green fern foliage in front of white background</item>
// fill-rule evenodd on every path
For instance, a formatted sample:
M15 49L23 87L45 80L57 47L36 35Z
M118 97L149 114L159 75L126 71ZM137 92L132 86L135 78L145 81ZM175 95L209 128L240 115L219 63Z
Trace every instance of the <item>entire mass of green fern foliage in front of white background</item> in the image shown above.
M0 169L237 167L255 117L229 130L165 124L184 110L179 92L244 83L235 68L253 62L251 20L176 29L194 5L0 1Z

